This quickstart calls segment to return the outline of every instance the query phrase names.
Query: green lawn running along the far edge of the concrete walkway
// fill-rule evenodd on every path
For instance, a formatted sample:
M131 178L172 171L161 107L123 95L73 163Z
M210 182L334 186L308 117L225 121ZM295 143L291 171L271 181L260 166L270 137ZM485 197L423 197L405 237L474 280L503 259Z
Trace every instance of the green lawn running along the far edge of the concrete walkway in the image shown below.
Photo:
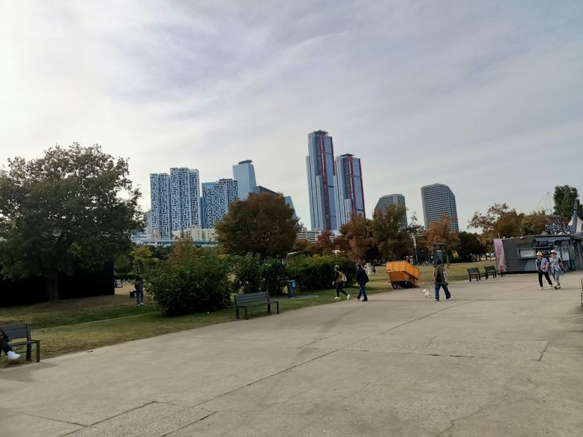
M450 282L466 280L466 268L494 265L493 261L469 264L451 264L447 270ZM376 268L371 282L366 287L367 294L391 292L389 277L383 267ZM433 268L420 269L420 287L428 287L433 282ZM332 276L332 275L331 275ZM61 301L58 304L34 304L0 308L0 325L30 322L34 339L41 340L41 358L50 358L78 351L87 351L108 344L144 339L160 334L191 330L197 327L231 322L235 319L234 308L206 314L184 315L181 317L162 317L152 306L136 306L126 289L118 290L114 296L97 296L83 299ZM347 287L346 291L356 299L358 287ZM333 304L334 289L314 292L298 292L298 297L306 299L281 298L281 312L292 311L307 306ZM146 293L147 298L147 293ZM267 311L252 313L253 317L266 315ZM16 349L20 353L20 349ZM21 359L22 360L22 359ZM0 365L6 365L2 355Z

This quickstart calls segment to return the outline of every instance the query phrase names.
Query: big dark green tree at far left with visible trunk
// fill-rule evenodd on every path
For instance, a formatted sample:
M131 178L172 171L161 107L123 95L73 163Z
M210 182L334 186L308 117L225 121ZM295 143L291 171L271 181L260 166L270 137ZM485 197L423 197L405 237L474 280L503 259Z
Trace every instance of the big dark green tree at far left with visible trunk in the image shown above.
M143 226L127 160L101 146L56 146L0 170L0 264L10 278L42 275L58 301L58 273L112 261ZM122 198L121 195L125 198Z

